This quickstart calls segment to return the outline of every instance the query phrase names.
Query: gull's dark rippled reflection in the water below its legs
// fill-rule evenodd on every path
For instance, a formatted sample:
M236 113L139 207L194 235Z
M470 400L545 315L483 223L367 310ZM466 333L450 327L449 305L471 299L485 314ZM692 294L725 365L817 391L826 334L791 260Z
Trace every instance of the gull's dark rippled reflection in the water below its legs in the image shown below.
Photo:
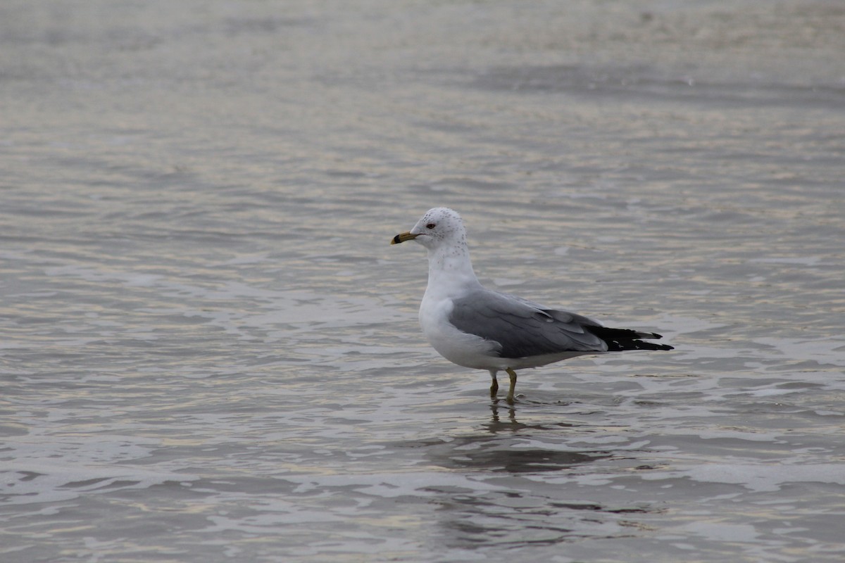
M549 446L561 446L559 430L568 433L575 425L522 424L516 420L513 408L500 413L494 403L491 410L492 419L484 426L488 434L416 444L423 446L429 460L440 467L461 474L471 472L479 479L496 479L502 485L481 494L473 490L439 491L442 494L435 501L439 506L439 528L450 549L515 549L584 538L626 537L633 524L625 515L652 512L642 506L607 506L589 496L585 498L591 491L579 487L544 485L546 479L558 479L554 474L568 481L577 479L577 475L602 473L588 464L619 456L607 449L538 447L543 433L549 435ZM602 463L602 467L606 466ZM490 478L489 474L496 476ZM532 474L544 477L532 481ZM534 485L526 487L526 478Z

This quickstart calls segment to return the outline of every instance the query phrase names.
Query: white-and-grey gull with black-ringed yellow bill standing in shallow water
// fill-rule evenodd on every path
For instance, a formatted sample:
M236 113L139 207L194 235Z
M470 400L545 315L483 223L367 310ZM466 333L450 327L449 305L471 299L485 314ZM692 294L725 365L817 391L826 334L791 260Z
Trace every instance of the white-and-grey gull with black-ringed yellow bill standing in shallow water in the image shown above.
M493 400L499 371L510 377L506 400L512 405L516 370L586 354L673 349L643 340L662 338L657 333L603 327L576 313L484 288L472 270L461 215L450 208L429 209L390 244L406 241L428 250L428 286L419 313L428 343L452 363L489 371Z

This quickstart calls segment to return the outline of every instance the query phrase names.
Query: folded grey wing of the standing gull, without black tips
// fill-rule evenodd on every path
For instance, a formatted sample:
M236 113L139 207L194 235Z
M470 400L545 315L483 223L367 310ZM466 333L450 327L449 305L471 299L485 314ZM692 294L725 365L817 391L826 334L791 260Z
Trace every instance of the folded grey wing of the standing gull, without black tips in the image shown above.
M603 352L608 345L585 327L598 322L567 311L555 311L491 290L474 291L453 301L449 322L464 333L499 344L503 358Z

